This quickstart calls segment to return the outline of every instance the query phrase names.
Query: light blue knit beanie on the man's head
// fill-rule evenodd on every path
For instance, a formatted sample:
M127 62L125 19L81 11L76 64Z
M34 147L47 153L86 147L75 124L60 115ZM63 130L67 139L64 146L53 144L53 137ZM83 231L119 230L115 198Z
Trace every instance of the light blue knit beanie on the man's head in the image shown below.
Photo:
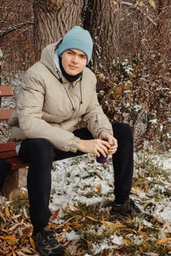
M65 50L77 49L83 51L87 56L87 63L91 60L93 50L93 40L91 34L82 29L80 26L75 26L69 30L58 47L58 56L64 53Z

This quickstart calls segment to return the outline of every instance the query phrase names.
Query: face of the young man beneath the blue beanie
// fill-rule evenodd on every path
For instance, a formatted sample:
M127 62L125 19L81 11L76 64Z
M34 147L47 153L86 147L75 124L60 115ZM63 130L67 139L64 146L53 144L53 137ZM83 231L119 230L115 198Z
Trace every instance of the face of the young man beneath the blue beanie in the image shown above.
M66 74L77 75L86 67L87 56L81 50L69 49L61 54L61 63Z

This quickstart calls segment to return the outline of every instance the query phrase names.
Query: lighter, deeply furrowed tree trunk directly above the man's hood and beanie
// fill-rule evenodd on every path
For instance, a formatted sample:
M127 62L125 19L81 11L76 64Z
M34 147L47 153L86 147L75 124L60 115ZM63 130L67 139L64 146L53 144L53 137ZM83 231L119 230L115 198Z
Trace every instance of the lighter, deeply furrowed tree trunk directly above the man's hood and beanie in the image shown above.
M34 0L36 60L46 45L58 41L66 31L81 24L83 0Z

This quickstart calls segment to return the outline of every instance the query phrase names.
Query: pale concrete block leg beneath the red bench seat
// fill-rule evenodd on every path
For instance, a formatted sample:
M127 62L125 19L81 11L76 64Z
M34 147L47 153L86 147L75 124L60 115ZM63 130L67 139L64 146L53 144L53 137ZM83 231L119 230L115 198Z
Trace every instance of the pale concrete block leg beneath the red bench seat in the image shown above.
M11 170L4 182L2 195L10 197L12 190L19 189L20 187L26 187L27 171L27 167L20 168L18 170Z

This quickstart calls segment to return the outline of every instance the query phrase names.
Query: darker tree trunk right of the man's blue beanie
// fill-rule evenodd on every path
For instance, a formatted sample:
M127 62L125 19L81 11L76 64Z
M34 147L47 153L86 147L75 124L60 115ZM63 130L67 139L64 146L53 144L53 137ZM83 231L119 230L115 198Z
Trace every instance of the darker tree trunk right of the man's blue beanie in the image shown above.
M93 67L108 72L118 57L118 23L121 1L87 1L84 27L93 35Z

